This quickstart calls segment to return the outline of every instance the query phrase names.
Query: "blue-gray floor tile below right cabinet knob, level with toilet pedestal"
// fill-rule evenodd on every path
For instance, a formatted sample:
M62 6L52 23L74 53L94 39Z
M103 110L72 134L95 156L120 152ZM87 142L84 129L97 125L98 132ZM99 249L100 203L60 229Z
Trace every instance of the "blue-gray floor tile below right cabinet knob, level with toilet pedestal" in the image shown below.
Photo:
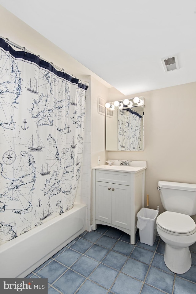
M106 255L102 263L114 269L121 270L126 260L127 260L126 256L120 253L111 251Z

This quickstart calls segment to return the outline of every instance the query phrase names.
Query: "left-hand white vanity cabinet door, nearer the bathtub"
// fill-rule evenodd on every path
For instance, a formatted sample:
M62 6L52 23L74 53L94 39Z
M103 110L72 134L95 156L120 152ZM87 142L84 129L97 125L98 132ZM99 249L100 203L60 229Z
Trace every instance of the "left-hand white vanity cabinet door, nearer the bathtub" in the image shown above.
M95 217L106 223L111 223L111 193L112 184L96 181Z

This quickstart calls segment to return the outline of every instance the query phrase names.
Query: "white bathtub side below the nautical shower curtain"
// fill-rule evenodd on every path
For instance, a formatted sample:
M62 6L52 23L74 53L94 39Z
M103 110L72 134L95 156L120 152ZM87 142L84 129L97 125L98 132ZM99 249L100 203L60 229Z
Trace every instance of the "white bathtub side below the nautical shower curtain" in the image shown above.
M0 246L0 278L24 278L86 230L86 205L74 207Z

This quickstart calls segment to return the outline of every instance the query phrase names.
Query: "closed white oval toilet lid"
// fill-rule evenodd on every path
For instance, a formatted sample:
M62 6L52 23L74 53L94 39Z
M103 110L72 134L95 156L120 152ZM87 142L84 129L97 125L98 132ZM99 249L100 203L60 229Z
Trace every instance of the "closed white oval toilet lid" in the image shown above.
M157 216L156 222L163 229L178 234L190 233L196 228L196 224L190 216L178 212L163 212Z

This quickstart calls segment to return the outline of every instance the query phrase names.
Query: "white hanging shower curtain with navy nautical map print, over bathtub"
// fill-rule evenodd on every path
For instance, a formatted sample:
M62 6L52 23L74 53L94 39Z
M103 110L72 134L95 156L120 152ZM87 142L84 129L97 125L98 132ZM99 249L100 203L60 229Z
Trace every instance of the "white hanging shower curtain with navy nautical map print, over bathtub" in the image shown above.
M0 244L72 208L86 90L0 38Z

